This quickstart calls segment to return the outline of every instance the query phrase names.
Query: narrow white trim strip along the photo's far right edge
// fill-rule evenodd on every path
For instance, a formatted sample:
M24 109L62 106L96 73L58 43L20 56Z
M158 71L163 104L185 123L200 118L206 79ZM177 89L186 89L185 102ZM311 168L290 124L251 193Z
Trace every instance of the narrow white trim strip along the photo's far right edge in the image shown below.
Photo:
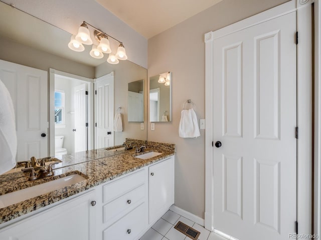
M314 226L321 239L321 2L314 1Z

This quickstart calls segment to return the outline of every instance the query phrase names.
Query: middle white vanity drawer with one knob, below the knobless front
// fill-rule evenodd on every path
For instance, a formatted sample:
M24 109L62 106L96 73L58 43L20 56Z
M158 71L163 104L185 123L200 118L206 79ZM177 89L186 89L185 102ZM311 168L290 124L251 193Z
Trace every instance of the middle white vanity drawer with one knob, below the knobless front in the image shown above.
M103 206L103 222L112 223L111 220L117 220L130 209L134 208L139 202L144 201L146 185L142 184L135 189L125 193L115 200Z

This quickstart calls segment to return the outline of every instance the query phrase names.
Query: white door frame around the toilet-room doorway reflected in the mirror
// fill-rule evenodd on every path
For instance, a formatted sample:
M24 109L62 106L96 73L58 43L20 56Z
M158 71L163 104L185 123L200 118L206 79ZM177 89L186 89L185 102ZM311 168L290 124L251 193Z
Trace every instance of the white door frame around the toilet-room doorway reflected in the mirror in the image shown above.
M49 139L50 139L50 155L55 155L55 76L61 76L68 79L80 80L87 83L88 90L88 149L91 149L94 142L93 135L93 78L78 76L54 68L49 68Z

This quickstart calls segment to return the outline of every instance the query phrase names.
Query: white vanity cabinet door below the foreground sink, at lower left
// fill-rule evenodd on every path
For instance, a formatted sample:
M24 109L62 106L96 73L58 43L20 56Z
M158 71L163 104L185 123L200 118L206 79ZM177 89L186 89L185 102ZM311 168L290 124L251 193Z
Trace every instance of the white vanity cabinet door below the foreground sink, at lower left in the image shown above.
M0 229L1 240L95 240L95 190Z

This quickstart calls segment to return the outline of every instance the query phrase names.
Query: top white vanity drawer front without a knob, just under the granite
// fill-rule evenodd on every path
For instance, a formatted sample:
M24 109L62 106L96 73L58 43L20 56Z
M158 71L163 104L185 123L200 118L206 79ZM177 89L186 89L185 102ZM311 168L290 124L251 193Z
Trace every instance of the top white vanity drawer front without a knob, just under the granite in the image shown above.
M103 186L103 202L106 203L145 182L145 169Z

